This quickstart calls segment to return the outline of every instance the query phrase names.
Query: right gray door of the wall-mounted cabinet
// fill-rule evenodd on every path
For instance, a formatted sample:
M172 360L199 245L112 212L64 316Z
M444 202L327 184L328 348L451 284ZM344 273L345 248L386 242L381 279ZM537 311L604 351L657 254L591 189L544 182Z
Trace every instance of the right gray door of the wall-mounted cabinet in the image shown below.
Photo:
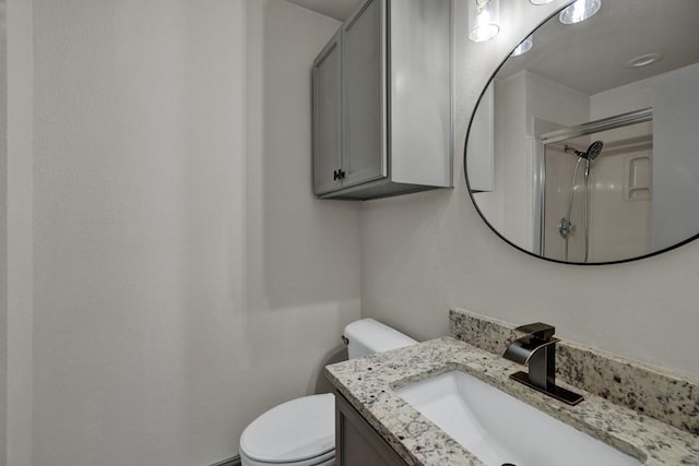
M388 175L386 0L367 0L342 31L344 187Z

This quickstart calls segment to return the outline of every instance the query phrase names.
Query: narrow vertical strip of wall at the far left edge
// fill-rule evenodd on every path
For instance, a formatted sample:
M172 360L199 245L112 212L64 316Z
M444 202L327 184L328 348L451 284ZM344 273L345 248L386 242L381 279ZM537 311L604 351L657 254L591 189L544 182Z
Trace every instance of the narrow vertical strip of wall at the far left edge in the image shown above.
M32 465L32 1L7 1L7 464ZM3 262L4 263L4 262Z

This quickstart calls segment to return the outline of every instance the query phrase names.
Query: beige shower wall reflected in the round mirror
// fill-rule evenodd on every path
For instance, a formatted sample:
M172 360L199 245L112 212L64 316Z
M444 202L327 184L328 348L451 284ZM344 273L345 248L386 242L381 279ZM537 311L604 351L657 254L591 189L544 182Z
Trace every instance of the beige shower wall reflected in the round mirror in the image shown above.
M585 162L580 163L573 184L578 157L564 153L564 147L584 151L597 140L604 142L604 150L590 169L588 262L616 261L650 252L652 123L647 122L546 147L544 253L547 258L585 260ZM571 187L569 219L574 230L568 237L566 258L566 240L559 235L558 225L562 217L568 217Z

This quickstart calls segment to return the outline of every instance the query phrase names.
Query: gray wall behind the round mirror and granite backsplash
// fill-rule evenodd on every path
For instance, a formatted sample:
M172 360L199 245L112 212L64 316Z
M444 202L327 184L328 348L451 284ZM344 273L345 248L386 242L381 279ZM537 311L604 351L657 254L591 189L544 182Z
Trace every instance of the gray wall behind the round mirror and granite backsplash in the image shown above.
M562 3L503 1L501 33L474 44L463 31L465 2L455 0L454 189L364 204L363 314L422 339L447 334L452 307L518 324L542 320L565 338L697 374L699 242L628 264L549 263L497 238L466 193L462 155L481 91L518 40Z

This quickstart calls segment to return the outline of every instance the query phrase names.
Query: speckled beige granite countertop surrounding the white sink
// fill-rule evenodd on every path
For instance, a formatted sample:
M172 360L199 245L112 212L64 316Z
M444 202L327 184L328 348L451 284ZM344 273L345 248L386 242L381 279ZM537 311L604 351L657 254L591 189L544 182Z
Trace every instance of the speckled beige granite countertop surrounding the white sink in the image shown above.
M649 466L699 465L699 439L578 387L577 406L509 379L522 367L452 337L328 366L325 373L350 403L408 465L479 466L483 463L395 394L395 390L460 370L602 440Z

